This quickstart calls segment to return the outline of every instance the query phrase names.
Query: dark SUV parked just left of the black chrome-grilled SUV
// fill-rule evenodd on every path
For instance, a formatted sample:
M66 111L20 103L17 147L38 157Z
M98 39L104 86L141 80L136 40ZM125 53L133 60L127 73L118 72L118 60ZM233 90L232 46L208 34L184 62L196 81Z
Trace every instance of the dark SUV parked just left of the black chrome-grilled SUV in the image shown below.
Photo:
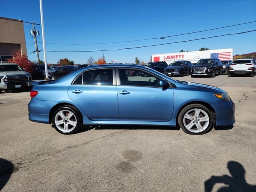
M167 76L178 75L182 77L184 74L190 74L192 63L190 61L175 61L164 69Z

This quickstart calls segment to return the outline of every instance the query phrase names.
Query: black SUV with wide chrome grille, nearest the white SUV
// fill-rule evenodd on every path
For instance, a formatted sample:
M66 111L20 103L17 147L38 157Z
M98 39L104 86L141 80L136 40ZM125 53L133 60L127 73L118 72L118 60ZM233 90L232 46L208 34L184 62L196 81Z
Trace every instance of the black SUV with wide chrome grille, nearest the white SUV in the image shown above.
M222 62L219 59L200 59L193 65L190 75L215 77L216 73L222 75L222 70Z

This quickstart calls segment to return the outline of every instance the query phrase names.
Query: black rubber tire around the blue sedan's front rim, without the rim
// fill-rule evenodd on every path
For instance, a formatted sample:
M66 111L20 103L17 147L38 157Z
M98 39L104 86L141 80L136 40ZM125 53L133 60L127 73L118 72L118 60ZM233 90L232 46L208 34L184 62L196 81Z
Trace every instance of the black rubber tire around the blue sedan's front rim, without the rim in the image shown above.
M186 129L184 123L183 123L183 118L185 116L185 114L187 112L189 112L190 110L193 110L193 109L200 109L200 110L204 110L204 112L207 113L207 115L209 116L209 124L208 126L202 131L202 132L191 132L189 131L188 129ZM205 106L201 105L201 104L190 104L186 107L184 107L181 111L180 111L180 114L178 116L178 124L180 125L180 128L182 128L182 130L187 133L187 134L191 134L191 135L202 135L202 134L205 134L207 132L209 132L211 129L212 129L212 113L210 112L210 110L208 108L206 108ZM200 122L199 122L200 123ZM207 124L206 124L207 125ZM205 125L205 126L206 126ZM191 128L192 129L195 129L194 126Z

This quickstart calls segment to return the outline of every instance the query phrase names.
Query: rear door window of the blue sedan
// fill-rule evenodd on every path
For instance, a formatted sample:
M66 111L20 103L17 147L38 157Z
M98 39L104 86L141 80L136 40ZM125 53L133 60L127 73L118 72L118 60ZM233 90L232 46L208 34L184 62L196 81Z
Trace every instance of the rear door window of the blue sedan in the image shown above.
M84 85L113 85L113 70L96 69L83 73Z

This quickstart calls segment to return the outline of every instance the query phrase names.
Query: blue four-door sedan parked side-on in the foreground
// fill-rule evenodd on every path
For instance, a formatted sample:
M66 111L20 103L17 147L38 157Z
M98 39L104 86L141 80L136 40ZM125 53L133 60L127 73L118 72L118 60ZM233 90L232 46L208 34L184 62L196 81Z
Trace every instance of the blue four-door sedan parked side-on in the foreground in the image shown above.
M136 72L130 76L129 71ZM235 122L235 104L213 86L176 81L137 65L101 65L76 70L30 92L29 120L52 123L62 134L82 125L177 126L204 134Z

